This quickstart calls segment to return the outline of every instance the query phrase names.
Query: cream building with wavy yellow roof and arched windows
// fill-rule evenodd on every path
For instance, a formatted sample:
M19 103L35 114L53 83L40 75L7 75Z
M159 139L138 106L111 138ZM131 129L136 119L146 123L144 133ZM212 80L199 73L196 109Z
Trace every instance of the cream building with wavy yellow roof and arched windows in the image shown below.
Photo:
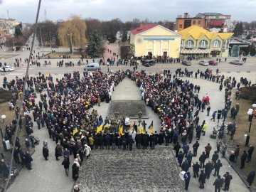
M230 37L234 33L213 33L200 26L190 26L178 34L181 38L181 55L198 58L228 57Z

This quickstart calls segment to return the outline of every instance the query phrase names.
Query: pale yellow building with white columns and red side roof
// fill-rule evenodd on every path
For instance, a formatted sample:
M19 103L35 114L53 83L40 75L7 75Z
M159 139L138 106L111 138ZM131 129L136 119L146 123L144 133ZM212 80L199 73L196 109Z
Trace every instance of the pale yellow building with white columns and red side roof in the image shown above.
M181 35L155 23L131 31L130 44L136 57L144 55L179 58Z

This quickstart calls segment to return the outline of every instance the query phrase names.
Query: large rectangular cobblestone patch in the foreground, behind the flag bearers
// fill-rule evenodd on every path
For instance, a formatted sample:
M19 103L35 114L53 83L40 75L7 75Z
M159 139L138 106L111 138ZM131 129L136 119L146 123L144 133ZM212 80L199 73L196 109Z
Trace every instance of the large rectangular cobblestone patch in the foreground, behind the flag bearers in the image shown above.
M78 184L89 191L183 191L170 148L93 150Z

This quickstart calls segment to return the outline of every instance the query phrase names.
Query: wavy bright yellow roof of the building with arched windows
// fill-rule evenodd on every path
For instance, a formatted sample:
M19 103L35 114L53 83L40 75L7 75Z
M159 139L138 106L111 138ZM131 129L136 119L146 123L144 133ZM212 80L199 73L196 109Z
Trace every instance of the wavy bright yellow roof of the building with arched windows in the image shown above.
M212 40L216 36L219 36L221 39L224 40L233 36L234 33L213 33L207 31L206 29L200 26L190 26L188 28L183 29L182 31L179 31L178 34L182 36L181 39L187 39L189 36L191 36L195 40L198 40L201 39L203 36L206 36L207 38Z

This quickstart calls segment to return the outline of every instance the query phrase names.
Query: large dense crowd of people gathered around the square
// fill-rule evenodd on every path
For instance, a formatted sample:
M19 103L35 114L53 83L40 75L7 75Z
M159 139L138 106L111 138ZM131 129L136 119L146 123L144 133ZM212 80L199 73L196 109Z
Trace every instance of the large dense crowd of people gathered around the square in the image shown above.
M138 126L133 124L132 133L111 131L107 132L105 127L100 132L97 132L99 122L104 124L111 123L109 119L103 119L96 110L90 112L90 108L94 105L100 105L100 102L109 102L111 100L114 86L118 85L125 76L128 76L132 80L136 81L138 87L142 92L142 100L147 106L151 107L151 110L156 112L161 119L161 131L159 133L139 132ZM170 70L165 70L164 75L156 73L154 75L146 75L144 71L122 71L119 70L116 73L109 72L103 74L100 71L95 73L84 72L80 75L75 71L73 75L66 73L63 78L55 78L53 76L43 75L39 73L37 77L30 77L26 82L27 88L24 93L23 111L25 113L26 124L26 151L21 149L19 139L16 139L15 144L15 156L14 160L16 164L26 165L28 169L32 169L29 151L31 146L36 144L36 136L33 135L33 129L37 127L41 129L46 127L48 129L49 138L53 139L56 143L55 147L55 159L60 160L60 156L63 156L62 164L65 169L65 174L68 176L68 169L70 165L70 156L73 155L74 161L72 164L73 179L76 181L79 176L79 167L81 166L84 158L89 158L90 151L95 149L129 149L132 150L133 143L136 143L137 149L146 149L148 146L154 149L156 144L174 144L174 151L178 164L181 169L186 172L184 175L186 189L190 181L189 169L193 168L193 177L197 178L200 183L200 188L204 188L206 178L210 177L210 173L214 171L214 176L218 178L213 183L215 188L225 186L225 190L228 190L230 186L230 180L232 176L227 172L223 176L225 181L220 178L220 167L222 166L218 152L221 151L222 156L225 156L227 150L227 144L223 140L223 134L225 127L227 127L230 136L235 134L235 123L231 122L225 126L225 119L230 111L231 116L235 119L239 111L239 105L231 107L232 103L232 89L233 87L239 87L240 85L249 85L250 82L246 78L241 78L240 82L237 82L235 78L226 77L218 74L216 71L213 74L212 70L201 71L198 70L194 73L194 78L200 75L200 78L219 83L225 87L225 105L220 110L219 114L216 114L218 109L213 111L213 120L215 115L217 119L224 119L222 126L216 129L217 149L213 152L211 161L206 163L206 159L210 159L210 151L214 149L210 144L204 146L205 152L200 155L198 161L196 161L198 147L200 145L201 136L205 135L208 123L206 120L202 120L202 124L199 124L199 113L203 110L210 114L210 95L205 95L203 98L198 97L200 91L200 85L193 85L193 83L187 79L183 80L180 77L186 75L187 77L193 77L193 72L187 69L177 69L174 73ZM13 92L11 104L13 107L10 110L15 110L16 116L18 115L18 107L16 107L16 100L19 95L22 94L22 88L24 84L24 78L16 77L15 80L4 79L3 87L6 90ZM220 89L221 91L222 89ZM36 102L38 97L38 102ZM239 98L239 97L238 97ZM121 124L124 119L121 120ZM16 119L6 126L6 133L4 138L11 142L11 138L14 135ZM37 126L34 126L36 123ZM19 122L21 125L22 122ZM142 123L143 124L143 123ZM144 123L144 129L146 124ZM135 132L135 135L133 133ZM193 143L193 139L196 142ZM233 137L230 137L233 139ZM191 145L190 145L191 144ZM193 151L193 152L192 152ZM249 151L249 150L248 150ZM43 156L47 161L49 152L47 142L43 143ZM253 146L250 146L250 156L244 151L241 156L241 169L243 168L244 161L250 161L253 152ZM239 146L235 149L234 156L237 159L239 155ZM231 155L230 155L231 156ZM229 158L232 160L232 156ZM196 161L193 164L193 161ZM206 164L205 164L206 163ZM6 170L6 164L2 162L1 169ZM201 172L200 172L201 169ZM199 174L199 172L201 174ZM5 172L8 173L8 172ZM253 181L255 173L250 174L248 182L250 184Z

